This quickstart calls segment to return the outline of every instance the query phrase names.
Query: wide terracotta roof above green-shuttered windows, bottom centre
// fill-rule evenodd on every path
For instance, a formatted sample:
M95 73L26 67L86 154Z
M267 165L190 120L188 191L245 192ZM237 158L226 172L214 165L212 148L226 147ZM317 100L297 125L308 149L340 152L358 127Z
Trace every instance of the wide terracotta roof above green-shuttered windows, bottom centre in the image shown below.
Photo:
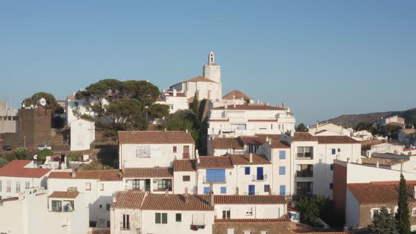
M208 195L164 195L149 193L142 204L144 210L212 211Z

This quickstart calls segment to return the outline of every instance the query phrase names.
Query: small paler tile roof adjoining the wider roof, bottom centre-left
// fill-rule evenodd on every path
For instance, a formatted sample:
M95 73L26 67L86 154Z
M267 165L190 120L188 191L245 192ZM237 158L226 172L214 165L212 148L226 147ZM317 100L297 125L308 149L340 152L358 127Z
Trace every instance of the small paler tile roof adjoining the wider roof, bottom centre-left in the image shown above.
M116 193L116 202L111 205L116 209L140 209L146 192L121 191Z

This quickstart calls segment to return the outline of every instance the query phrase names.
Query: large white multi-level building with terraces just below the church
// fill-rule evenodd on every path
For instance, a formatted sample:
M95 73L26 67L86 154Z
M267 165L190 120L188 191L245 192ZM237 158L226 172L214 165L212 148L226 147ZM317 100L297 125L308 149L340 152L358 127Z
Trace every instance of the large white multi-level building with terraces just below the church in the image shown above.
M267 104L219 106L209 110L209 137L276 134L295 130L290 109Z

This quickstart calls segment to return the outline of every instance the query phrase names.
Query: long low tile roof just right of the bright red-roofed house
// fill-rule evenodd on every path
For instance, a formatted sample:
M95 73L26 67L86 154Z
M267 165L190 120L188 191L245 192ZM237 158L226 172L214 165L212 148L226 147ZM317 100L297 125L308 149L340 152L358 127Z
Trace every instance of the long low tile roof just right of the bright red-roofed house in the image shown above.
M53 171L48 176L49 179L72 179L71 172ZM101 181L118 181L123 179L120 170L91 170L75 172L75 179L80 180L101 180Z

